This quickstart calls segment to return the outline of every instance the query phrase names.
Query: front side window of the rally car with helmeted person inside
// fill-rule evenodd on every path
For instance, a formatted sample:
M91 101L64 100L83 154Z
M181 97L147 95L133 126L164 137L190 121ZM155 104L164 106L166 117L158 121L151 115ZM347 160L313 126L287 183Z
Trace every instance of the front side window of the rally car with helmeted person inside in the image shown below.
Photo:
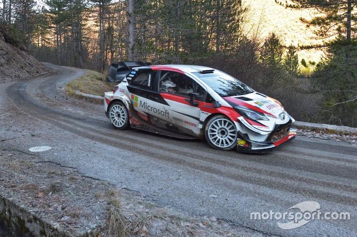
M205 89L190 77L171 71L161 71L159 91L185 97L190 97L189 93L194 92L199 94L197 100L202 100L206 93Z

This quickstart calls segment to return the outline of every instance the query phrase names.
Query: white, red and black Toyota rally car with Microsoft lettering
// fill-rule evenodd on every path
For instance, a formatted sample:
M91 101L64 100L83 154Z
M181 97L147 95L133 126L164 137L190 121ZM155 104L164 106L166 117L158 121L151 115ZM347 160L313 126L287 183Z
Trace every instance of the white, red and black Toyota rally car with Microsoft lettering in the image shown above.
M189 65L126 68L129 74L105 93L105 111L116 129L205 137L214 149L258 153L296 135L294 119L280 102L219 70Z

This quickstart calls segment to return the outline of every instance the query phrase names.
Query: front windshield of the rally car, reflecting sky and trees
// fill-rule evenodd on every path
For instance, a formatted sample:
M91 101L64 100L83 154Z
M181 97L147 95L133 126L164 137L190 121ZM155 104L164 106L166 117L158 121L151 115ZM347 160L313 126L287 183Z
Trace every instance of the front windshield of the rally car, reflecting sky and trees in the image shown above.
M254 92L252 88L236 78L215 70L213 73L194 72L199 79L206 82L221 97L239 96Z

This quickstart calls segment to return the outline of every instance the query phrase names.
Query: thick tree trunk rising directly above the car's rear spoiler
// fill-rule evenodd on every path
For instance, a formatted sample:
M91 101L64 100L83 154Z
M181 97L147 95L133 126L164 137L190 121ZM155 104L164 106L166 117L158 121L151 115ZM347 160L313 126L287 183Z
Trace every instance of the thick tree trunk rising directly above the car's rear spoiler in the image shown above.
M128 0L127 7L127 31L128 31L128 49L127 49L127 59L129 61L134 61L134 47L135 47L135 27L136 27L136 19L135 19L135 0Z

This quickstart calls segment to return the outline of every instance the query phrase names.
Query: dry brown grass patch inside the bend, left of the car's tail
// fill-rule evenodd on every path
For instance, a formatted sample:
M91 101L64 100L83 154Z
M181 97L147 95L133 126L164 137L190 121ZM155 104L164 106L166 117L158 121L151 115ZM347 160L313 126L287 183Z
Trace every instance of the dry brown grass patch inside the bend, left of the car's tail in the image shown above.
M75 90L86 94L103 96L105 92L113 90L115 83L106 82L104 74L89 71L77 80L71 81L66 85L66 91L70 96L76 96Z

